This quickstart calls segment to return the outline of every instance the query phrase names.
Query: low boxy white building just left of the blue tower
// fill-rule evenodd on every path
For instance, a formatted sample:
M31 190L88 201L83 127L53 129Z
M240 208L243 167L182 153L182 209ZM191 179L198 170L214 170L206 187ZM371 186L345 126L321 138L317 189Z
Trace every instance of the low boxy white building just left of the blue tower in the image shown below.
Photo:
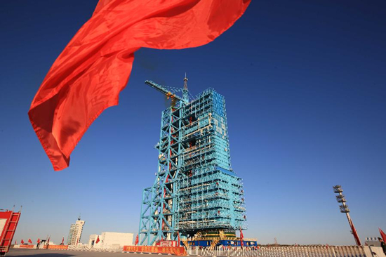
M102 232L102 235L91 235L88 245L101 248L133 245L133 233Z

